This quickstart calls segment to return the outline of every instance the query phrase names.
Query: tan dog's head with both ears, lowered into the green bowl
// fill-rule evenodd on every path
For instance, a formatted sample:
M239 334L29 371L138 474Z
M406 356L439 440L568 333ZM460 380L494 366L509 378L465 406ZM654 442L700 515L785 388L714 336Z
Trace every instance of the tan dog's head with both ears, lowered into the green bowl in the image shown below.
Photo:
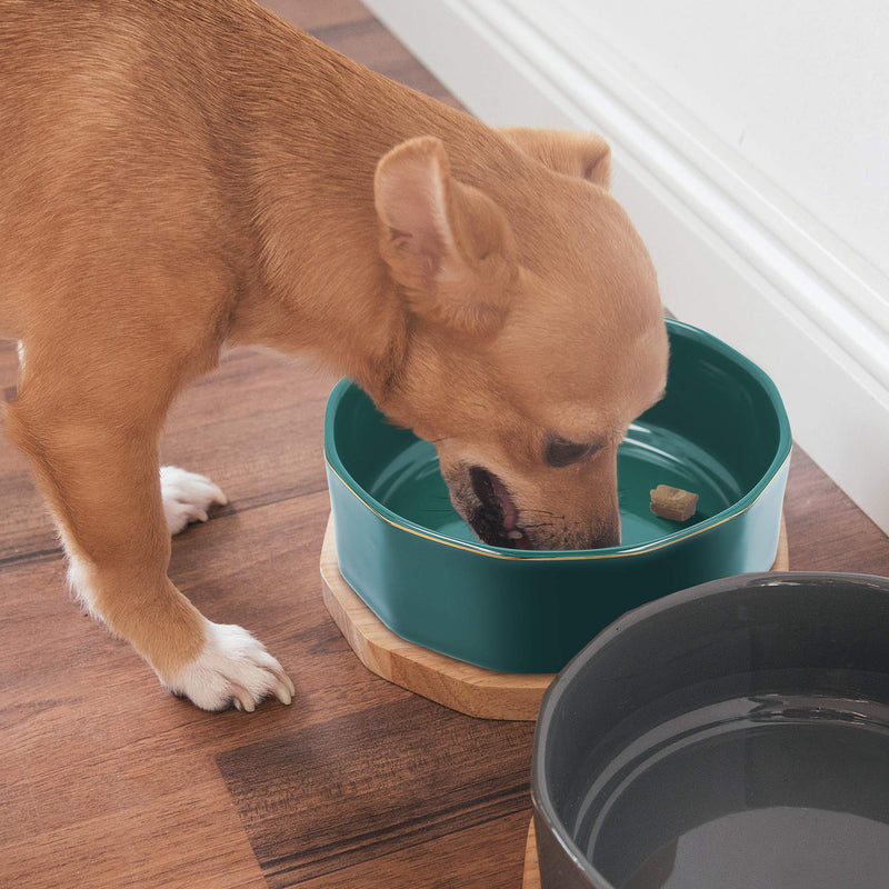
M666 384L655 270L607 191L598 137L510 130L492 162L487 188L480 170L458 181L438 139L380 161L380 249L409 332L374 397L434 443L486 542L613 546L618 446Z

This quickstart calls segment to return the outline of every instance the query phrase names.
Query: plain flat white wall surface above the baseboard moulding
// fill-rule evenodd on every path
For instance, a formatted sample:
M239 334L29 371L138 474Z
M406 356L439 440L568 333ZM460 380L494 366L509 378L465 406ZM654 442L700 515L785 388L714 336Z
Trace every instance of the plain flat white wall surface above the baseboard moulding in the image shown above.
M548 8L511 6L527 16ZM553 6L637 67L647 91L681 106L696 129L749 163L789 213L818 220L819 239L839 238L889 274L886 0Z

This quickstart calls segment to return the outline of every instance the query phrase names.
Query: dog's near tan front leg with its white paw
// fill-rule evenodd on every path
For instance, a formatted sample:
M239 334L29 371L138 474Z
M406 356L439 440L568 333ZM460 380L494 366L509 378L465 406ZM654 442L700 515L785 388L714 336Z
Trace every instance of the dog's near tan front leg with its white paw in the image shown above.
M39 369L29 364L28 376ZM96 389L60 398L67 387L54 382L24 386L7 428L33 462L78 597L198 707L252 710L268 695L289 703L293 686L262 643L204 618L167 577L159 423L144 413L121 423L119 406L103 404Z

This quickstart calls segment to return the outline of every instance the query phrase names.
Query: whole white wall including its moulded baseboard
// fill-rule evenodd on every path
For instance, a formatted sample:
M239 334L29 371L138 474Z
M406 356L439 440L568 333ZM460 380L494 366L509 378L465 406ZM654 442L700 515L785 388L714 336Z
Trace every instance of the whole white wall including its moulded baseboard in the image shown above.
M610 140L666 304L889 532L889 4L364 2L487 122Z

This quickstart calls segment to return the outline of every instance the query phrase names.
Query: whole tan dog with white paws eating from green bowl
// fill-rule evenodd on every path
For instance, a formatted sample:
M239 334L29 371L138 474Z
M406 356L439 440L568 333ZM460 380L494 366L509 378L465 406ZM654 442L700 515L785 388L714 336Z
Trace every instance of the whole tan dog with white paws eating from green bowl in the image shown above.
M223 344L357 380L490 542L618 540L616 451L667 339L601 139L493 131L250 0L0 0L0 122L7 431L72 587L172 691L293 693L167 577L170 531L223 498L159 476L157 439Z

